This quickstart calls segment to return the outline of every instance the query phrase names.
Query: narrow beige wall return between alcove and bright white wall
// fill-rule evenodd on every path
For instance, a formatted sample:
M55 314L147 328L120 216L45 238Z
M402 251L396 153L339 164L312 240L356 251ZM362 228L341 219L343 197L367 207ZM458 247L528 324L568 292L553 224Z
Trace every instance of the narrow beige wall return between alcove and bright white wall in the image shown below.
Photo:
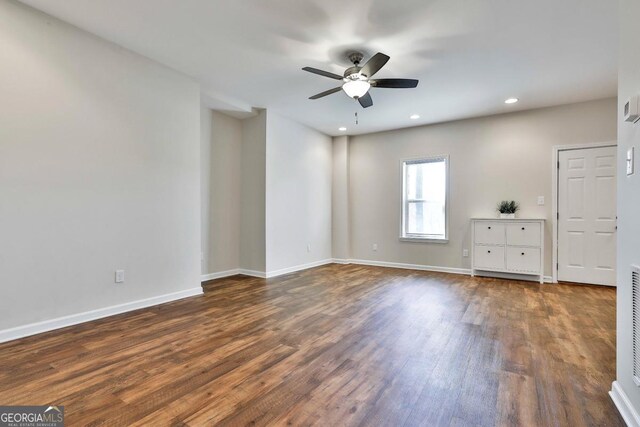
M267 112L242 121L240 268L265 272Z

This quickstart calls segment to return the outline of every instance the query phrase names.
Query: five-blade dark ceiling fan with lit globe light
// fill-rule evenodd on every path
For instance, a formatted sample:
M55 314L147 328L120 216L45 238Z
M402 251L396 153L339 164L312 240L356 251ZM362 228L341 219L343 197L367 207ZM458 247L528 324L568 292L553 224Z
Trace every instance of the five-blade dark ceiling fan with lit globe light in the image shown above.
M343 81L341 86L313 95L309 97L309 99L322 98L324 96L331 95L332 93L344 90L350 98L357 99L363 108L367 108L373 105L371 94L369 94L369 89L372 87L409 89L418 86L418 80L414 79L371 79L371 77L380 71L380 69L384 67L384 64L389 60L389 56L384 53L376 53L362 67L360 66L360 62L362 62L362 59L364 58L362 53L352 52L348 55L348 58L353 62L353 67L347 68L344 72L344 76L339 76L338 74L330 73L328 71L318 70L313 67L303 68L304 71L308 71L310 73Z

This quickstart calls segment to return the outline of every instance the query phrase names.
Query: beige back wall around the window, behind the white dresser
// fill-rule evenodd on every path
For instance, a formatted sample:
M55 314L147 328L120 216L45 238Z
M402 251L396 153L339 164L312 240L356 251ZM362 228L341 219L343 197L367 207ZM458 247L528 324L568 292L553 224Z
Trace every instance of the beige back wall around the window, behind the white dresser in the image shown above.
M615 99L351 137L351 258L470 268L462 256L470 249L469 218L495 216L503 199L520 202L520 216L549 220L550 248L552 147L615 139ZM450 156L449 243L401 242L401 159L441 154Z

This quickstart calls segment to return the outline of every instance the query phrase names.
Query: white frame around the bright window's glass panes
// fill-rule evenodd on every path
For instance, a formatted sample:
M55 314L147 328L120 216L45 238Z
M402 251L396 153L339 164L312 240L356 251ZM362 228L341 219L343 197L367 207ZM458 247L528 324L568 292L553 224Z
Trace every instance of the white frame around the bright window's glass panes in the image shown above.
M444 161L445 166L445 203L444 203L444 238L435 237L429 234L407 234L405 233L405 224L407 222L408 205L410 201L407 200L407 173L406 166L408 164L415 163L435 163ZM418 157L412 159L403 159L400 161L400 175L401 175L401 208L400 208L400 240L405 242L425 242L425 243L449 243L449 156L429 156Z

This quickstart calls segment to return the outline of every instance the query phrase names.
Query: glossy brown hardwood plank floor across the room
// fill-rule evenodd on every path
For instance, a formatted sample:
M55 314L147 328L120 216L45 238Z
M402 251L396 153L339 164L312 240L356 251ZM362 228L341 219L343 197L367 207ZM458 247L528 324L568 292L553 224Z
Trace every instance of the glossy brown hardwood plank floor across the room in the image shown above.
M0 345L0 404L67 425L622 426L615 289L355 265Z

